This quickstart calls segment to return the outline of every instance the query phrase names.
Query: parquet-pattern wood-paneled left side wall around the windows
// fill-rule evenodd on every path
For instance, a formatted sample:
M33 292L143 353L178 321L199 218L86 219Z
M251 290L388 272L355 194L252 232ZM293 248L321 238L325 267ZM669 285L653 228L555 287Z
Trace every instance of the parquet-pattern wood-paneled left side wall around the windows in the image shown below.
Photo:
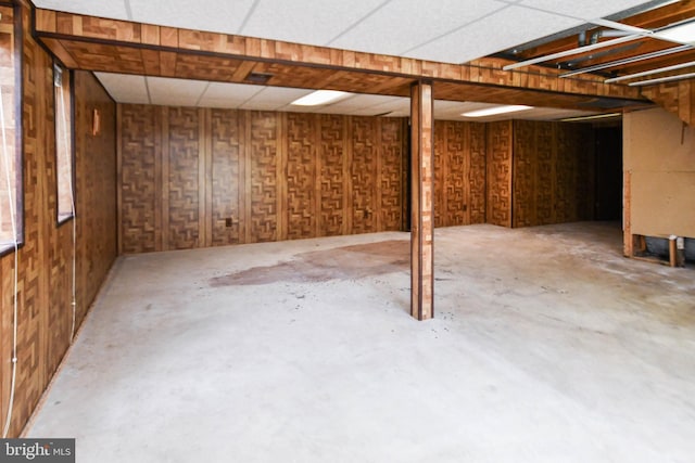
M55 130L53 127L52 59L31 38L30 14L18 7L23 24L23 173L24 245L18 252L17 380L10 436L17 436L36 408L71 342L72 221L56 224ZM4 16L4 15L3 15ZM102 111L102 136L77 137L77 285L81 321L116 256L115 105L88 74L76 74L76 132L87 133L91 120L84 115L97 105ZM109 114L112 114L109 116ZM90 119L90 118L89 118ZM85 127L88 124L90 127ZM12 372L14 254L0 259L2 286L0 415L8 412Z

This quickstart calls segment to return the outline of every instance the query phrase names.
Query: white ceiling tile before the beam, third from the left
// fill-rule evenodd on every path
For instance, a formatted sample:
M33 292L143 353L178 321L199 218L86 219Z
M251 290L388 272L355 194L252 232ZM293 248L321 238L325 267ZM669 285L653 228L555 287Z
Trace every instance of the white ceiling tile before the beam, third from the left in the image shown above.
M239 34L323 46L381 3L383 0L260 0Z

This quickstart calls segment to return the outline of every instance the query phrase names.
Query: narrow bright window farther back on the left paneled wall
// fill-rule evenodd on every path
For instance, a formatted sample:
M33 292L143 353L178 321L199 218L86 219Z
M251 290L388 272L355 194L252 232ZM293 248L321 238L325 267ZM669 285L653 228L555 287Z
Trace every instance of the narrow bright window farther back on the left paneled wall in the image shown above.
M58 180L58 223L75 216L73 189L73 99L71 73L59 64L53 65L55 90L55 172Z

